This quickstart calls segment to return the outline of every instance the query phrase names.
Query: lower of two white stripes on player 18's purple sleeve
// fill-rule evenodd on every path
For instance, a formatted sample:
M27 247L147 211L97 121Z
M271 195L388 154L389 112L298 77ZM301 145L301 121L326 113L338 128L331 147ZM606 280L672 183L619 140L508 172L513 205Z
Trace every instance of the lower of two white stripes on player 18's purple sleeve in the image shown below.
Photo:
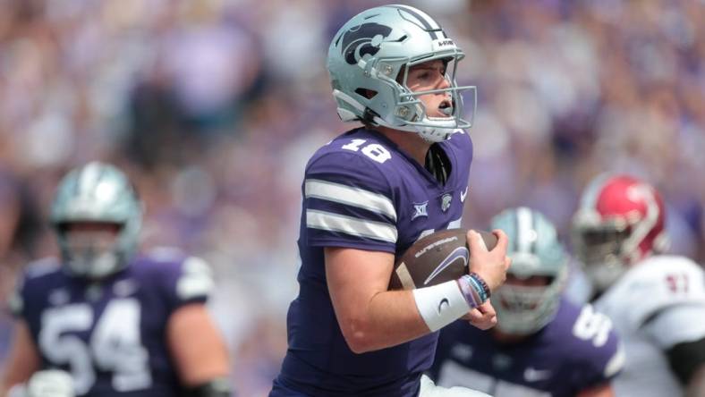
M331 232L344 232L386 242L396 242L396 228L392 224L365 221L351 216L333 214L315 209L306 210L306 226Z

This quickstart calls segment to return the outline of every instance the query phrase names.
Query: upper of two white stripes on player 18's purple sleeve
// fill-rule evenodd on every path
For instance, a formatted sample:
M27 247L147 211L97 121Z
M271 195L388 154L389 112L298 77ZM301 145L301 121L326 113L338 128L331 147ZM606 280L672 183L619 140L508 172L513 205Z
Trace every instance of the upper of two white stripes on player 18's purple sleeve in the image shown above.
M347 206L367 209L377 214L386 215L396 221L396 210L392 200L384 195L369 190L353 188L339 183L306 180L306 198L324 199Z

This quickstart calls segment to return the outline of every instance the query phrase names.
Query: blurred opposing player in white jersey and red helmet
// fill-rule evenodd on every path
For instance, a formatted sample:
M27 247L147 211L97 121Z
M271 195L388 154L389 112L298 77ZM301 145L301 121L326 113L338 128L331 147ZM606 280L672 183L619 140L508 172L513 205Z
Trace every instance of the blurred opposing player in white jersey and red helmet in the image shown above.
M617 396L705 395L705 274L667 250L665 207L649 183L599 175L573 217L595 308L624 342Z

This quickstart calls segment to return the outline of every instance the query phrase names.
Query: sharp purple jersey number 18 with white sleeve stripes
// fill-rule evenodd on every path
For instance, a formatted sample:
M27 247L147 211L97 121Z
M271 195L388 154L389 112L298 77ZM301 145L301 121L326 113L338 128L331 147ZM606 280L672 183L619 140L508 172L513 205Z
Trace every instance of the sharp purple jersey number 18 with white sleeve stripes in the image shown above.
M287 317L289 348L270 396L416 396L437 334L380 351L347 345L327 290L324 247L400 255L420 236L459 227L472 143L465 132L438 143L450 160L445 184L394 142L356 129L311 157L302 185L299 296Z

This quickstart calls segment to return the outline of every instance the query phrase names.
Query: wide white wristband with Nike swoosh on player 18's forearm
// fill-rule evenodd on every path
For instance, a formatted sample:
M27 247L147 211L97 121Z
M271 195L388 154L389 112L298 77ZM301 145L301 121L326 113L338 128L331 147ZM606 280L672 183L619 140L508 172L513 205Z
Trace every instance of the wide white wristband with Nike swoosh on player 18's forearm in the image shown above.
M431 332L443 328L470 311L470 306L455 280L412 292L416 308Z

